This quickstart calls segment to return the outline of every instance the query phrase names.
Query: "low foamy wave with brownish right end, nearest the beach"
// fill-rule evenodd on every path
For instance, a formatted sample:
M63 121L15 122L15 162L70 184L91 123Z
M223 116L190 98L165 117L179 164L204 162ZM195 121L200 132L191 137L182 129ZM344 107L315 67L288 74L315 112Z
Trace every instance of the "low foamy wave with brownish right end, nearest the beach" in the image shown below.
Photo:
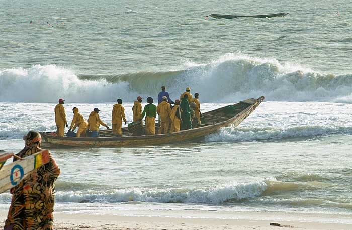
M287 177L295 177L290 178ZM123 203L131 201L155 203L188 203L188 204L235 204L241 205L250 202L252 206L265 204L285 205L291 207L332 207L351 209L352 203L336 197L302 198L301 193L319 193L321 190L348 189L341 185L330 184L325 175L294 174L281 175L276 178L259 180L249 183L236 183L217 185L214 187L199 188L126 188L112 189L99 188L92 184L72 183L57 184L55 201L58 203ZM286 179L285 179L286 178ZM324 179L325 178L325 179ZM330 178L331 179L331 178ZM286 181L285 181L286 180ZM71 187L74 190L67 190ZM10 203L9 193L0 194L0 204Z

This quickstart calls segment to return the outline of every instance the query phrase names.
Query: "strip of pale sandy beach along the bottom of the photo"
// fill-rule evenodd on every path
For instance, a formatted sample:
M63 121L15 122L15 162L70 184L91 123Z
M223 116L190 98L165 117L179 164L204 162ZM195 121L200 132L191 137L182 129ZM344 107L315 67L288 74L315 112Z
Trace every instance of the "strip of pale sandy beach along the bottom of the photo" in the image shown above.
M0 227L4 225L6 212L0 212ZM182 213L179 213L182 214ZM259 218L266 220L250 219L255 213L239 213L234 219L220 218L185 218L185 217L155 217L155 216L123 216L110 214L71 214L55 213L55 229L120 229L120 230L216 230L216 229L352 229L350 223L336 223L338 215L305 216L302 214L280 213L260 214ZM257 215L257 214L256 214ZM214 216L218 217L218 216ZM284 219L303 219L306 221L289 221ZM346 216L344 216L346 217ZM255 217L256 218L256 217ZM273 220L270 220L272 218ZM282 219L282 220L280 220ZM321 221L326 222L319 222ZM271 226L270 223L279 223L281 226Z

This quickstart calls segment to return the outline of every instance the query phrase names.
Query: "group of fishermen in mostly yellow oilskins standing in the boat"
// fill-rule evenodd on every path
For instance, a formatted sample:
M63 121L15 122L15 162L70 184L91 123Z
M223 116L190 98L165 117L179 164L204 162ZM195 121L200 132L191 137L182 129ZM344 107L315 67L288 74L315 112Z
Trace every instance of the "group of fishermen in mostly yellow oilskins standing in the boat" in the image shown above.
M160 127L158 134L178 132L180 129L192 129L201 124L201 112L199 94L195 93L194 97L190 93L191 88L187 87L186 92L182 93L180 100L174 102L170 99L165 86L161 87L161 92L158 94L158 105L155 106L153 98L147 98L147 105L144 106L142 111L142 97L138 96L132 107L133 122L140 122L145 116L145 135L155 134L155 118L158 114ZM59 104L56 105L55 123L57 136L64 136L65 127L68 127L66 120L66 112L63 106L63 99L59 99ZM173 104L174 106L172 106ZM100 125L110 129L99 117L99 109L94 108L86 121L83 115L79 112L77 107L73 109L73 119L68 129L68 134L71 130L74 131L77 127L78 130L75 134L76 137L85 137L89 131L90 137L98 137ZM117 104L114 104L112 111L112 132L115 135L122 136L122 121L127 124L125 117L125 108L122 106L122 100L117 99Z

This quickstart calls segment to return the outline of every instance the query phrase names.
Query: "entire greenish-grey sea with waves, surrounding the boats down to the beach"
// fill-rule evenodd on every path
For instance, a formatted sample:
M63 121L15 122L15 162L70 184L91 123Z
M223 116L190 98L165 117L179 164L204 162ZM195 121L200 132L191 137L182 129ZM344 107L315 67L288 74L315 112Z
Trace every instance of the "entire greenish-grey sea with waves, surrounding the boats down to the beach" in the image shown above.
M58 98L68 120L74 106L86 118L99 107L111 125L117 98L131 121L134 99L155 98L161 85L173 99L190 86L202 111L266 97L238 127L197 143L51 149L62 171L56 211L282 211L352 222L348 1L0 3L2 150L21 150L29 130L55 130ZM279 12L289 15L205 19ZM0 194L0 210L10 201Z

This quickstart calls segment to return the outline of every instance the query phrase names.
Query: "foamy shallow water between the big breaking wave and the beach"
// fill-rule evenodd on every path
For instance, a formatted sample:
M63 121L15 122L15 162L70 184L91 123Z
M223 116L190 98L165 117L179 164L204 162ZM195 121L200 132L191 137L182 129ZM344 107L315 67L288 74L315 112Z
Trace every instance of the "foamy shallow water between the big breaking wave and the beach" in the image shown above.
M222 105L203 104L207 109ZM37 112L53 107L30 106ZM92 106L82 104L80 112L89 114ZM126 111L131 106L126 103ZM196 209L350 215L349 106L263 102L238 127L223 128L197 143L51 149L62 170L56 184L56 209L110 214ZM101 118L108 125L106 111L111 107L99 104ZM71 118L69 110L67 114ZM22 116L15 117L21 120ZM51 112L42 113L42 130L54 127L51 116ZM37 123L25 126L34 129ZM2 148L19 151L23 141L17 138L25 130L3 133L15 136L3 137ZM8 193L0 195L2 210L7 209L10 198Z

